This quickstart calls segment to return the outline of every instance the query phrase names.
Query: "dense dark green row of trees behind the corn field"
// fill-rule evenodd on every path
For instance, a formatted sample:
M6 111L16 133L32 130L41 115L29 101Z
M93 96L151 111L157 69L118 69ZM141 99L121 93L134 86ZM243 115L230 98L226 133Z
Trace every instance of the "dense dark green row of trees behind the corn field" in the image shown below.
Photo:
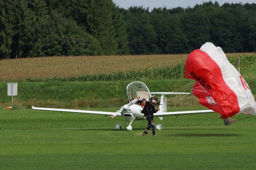
M112 0L0 0L0 59L189 53L205 42L256 52L256 4L149 11Z

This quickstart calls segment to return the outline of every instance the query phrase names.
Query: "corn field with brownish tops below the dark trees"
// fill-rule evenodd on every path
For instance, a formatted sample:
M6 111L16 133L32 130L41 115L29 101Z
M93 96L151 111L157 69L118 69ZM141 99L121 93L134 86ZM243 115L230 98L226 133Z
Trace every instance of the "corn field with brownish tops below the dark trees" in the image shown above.
M256 53L226 54L245 74L256 69ZM182 78L187 54L62 56L0 60L0 81L118 81ZM242 69L243 70L243 69ZM249 70L249 71L247 71Z

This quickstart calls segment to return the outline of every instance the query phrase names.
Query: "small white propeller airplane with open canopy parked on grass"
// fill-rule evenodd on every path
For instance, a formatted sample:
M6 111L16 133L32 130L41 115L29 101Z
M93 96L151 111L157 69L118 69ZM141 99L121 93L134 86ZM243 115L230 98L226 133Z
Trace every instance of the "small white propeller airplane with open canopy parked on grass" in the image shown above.
M132 131L132 122L135 120L146 120L146 116L141 113L143 107L140 105L142 98L145 98L148 101L152 94L161 94L161 99L159 103L159 111L154 113L154 117L159 117L159 119L163 119L163 116L168 115L181 115L181 114L193 114L193 113L207 113L214 112L213 110L191 110L191 111L167 111L167 97L169 94L190 94L190 93L175 93L175 92L154 92L150 93L148 87L140 81L134 81L127 85L126 87L128 101L129 103L122 106L120 110L116 112L106 112L106 111L91 111L91 110L72 110L72 109L54 109L54 108L43 108L43 107L34 107L34 110L48 110L48 111L60 111L60 112L75 112L75 113L87 113L87 114L98 114L98 115L110 115L111 119L115 116L123 116L125 122L130 122L126 127L128 131ZM125 123L124 122L124 123ZM116 130L121 130L122 125L118 123L116 125ZM156 126L158 130L162 129L162 125L158 124Z

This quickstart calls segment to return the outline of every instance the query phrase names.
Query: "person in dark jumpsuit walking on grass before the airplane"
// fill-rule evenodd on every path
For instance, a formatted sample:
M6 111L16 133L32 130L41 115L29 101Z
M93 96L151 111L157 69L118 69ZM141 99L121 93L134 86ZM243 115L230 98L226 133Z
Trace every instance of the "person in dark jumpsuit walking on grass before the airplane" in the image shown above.
M150 127L151 127L151 130L152 130L153 136L156 136L156 134L154 132L153 118L154 118L154 113L156 113L158 110L155 110L155 108L154 108L155 104L156 104L155 99L153 97L151 97L149 99L149 101L147 102L146 106L141 111L141 113L144 113L146 115L146 119L148 121L148 125L147 125L145 131L143 132L142 136L146 136Z

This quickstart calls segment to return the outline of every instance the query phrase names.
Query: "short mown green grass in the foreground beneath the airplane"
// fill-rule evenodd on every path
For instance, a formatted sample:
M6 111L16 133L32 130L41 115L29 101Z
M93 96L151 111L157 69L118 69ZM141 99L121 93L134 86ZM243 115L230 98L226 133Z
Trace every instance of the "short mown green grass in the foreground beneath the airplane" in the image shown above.
M117 109L109 108L108 110ZM255 117L229 126L217 114L155 119L116 131L117 117L1 109L0 169L255 169ZM236 118L244 118L238 115Z

